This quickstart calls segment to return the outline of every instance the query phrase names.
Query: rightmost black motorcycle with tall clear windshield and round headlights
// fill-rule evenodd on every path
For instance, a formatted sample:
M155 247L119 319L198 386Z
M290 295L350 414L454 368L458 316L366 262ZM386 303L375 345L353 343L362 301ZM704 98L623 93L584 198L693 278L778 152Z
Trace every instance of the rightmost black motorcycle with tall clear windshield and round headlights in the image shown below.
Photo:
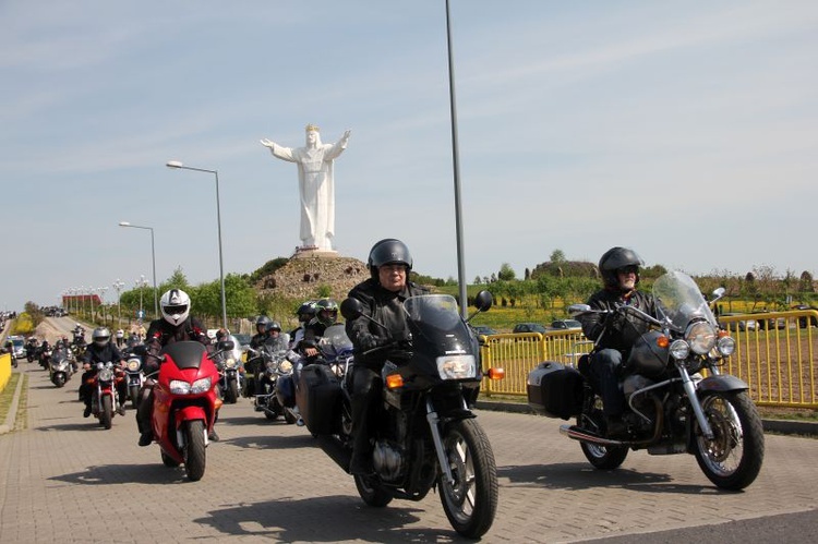
M717 289L711 304L723 295L724 289ZM552 418L576 416L576 425L562 425L560 431L579 440L586 458L598 469L616 469L629 449L647 449L650 455L693 454L718 487L743 489L761 470L765 438L749 386L720 372L735 350L735 340L719 327L689 276L672 271L659 277L653 298L658 318L631 306L610 312L587 304L568 309L577 317L602 314L603 323L617 312L629 312L652 325L623 363L627 437L606 437L602 401L588 374L593 351L579 359L578 370L544 362L531 371L529 406Z

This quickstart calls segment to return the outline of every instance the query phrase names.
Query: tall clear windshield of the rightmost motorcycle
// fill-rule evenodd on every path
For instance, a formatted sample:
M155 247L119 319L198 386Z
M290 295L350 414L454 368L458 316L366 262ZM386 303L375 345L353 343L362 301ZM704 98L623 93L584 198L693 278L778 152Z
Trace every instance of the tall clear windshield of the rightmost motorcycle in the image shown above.
M694 319L705 319L717 326L699 287L685 273L674 270L660 276L653 283L653 299L660 318L675 330L684 331Z

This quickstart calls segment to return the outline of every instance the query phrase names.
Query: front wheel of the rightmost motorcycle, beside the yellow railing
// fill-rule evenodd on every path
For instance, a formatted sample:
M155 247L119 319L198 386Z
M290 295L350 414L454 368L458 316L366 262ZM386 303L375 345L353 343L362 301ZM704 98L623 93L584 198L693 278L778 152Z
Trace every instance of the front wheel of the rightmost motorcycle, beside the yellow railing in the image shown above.
M713 439L707 439L696 425L699 468L722 489L747 487L756 480L765 457L763 427L756 406L747 391L730 391L705 395L701 409Z

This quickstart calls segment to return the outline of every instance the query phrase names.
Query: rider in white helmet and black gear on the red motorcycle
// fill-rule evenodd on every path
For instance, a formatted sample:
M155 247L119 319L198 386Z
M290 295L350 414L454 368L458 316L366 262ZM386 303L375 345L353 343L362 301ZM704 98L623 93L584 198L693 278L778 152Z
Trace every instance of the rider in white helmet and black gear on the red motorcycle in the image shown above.
M145 374L149 375L159 370L159 352L161 348L170 343L184 340L194 340L203 343L208 352L213 351L213 344L207 337L206 329L202 323L190 315L190 297L181 289L170 289L159 300L161 319L154 319L147 329L145 346L147 356L145 358ZM140 431L140 446L149 446L154 439L154 431L151 420L154 412L154 378L145 379L140 390L140 402L136 407L136 425ZM214 428L209 439L218 442L218 435Z

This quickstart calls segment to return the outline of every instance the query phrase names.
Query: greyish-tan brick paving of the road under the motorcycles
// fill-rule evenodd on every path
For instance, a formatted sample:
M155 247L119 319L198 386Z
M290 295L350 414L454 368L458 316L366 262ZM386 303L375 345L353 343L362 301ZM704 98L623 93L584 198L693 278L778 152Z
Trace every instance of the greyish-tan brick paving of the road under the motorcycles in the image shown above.
M435 493L363 505L352 479L304 428L267 422L246 399L221 410L221 442L189 482L158 446L136 446L133 411L105 431L82 418L76 378L29 375L27 425L0 436L0 542L418 542L462 540ZM561 420L480 410L497 462L500 506L483 542L579 542L818 509L818 443L767 435L758 480L713 487L691 456L630 452L593 470Z

